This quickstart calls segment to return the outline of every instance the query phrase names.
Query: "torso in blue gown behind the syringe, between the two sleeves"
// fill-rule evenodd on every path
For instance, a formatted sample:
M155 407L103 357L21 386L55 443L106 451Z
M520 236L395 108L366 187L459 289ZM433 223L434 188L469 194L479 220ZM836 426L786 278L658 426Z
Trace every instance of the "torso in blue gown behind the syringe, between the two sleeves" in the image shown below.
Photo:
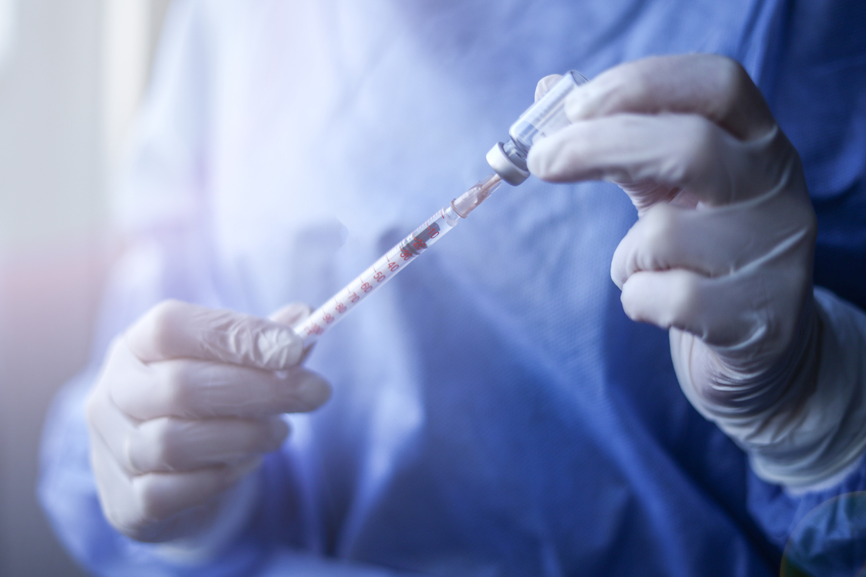
M224 304L322 303L490 172L540 77L707 51L760 81L784 11L250 2L211 85ZM619 304L635 219L611 184L503 186L321 339L333 400L295 447L320 548L443 574L772 574L745 459Z

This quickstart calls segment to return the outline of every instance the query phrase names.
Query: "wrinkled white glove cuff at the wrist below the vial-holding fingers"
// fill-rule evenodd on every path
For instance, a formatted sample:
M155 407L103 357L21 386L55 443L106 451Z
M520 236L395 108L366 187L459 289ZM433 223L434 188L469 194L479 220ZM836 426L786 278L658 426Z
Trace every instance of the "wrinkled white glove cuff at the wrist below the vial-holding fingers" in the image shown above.
M764 375L722 385L724 402L677 375L759 478L798 491L842 474L866 450L866 315L823 289L808 301L785 358Z

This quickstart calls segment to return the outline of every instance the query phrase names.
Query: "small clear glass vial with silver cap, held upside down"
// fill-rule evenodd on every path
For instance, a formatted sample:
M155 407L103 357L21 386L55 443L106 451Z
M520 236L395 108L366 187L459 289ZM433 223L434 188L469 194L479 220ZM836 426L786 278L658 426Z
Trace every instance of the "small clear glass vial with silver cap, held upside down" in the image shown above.
M511 137L488 152L490 167L505 182L517 186L529 177L527 155L533 144L571 124L565 116L565 99L589 80L575 70L562 75L544 96L529 106L508 129Z

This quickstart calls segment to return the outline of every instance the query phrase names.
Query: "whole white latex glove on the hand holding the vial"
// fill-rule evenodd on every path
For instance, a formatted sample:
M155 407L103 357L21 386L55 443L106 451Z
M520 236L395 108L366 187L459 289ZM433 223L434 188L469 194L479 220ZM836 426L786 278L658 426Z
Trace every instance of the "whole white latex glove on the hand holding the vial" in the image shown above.
M572 125L535 144L529 170L630 196L639 218L611 276L629 317L670 329L689 401L763 478L798 487L850 466L866 436L839 429L838 401L862 401L863 383L827 366L818 376L822 356L853 362L852 350L822 353L822 327L833 329L813 297L803 170L743 68L708 54L630 62L572 93L565 112Z

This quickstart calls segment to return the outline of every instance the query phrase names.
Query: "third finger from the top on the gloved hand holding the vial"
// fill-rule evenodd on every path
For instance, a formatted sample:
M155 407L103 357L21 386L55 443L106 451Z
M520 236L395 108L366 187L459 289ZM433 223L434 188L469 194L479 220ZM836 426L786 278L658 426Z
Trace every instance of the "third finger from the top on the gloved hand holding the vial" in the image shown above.
M699 210L662 202L641 215L619 243L611 279L622 288L635 272L670 268L721 277L793 246L806 250L813 228L805 203L778 195Z

